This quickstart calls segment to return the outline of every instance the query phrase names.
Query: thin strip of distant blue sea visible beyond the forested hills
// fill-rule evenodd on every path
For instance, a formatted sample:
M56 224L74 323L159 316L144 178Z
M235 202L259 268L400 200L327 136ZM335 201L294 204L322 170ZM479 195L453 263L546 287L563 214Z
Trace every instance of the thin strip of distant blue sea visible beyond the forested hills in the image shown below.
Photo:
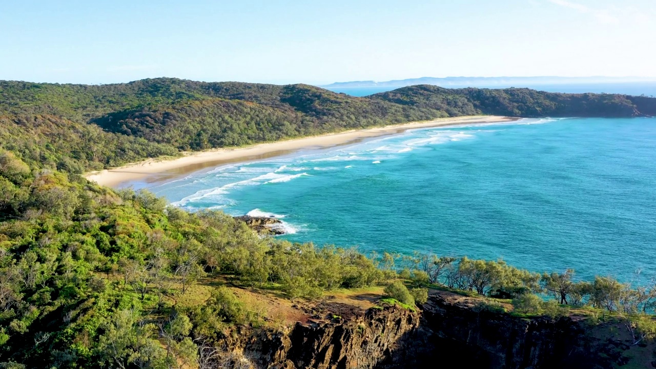
M445 86L449 88L464 88L469 86ZM494 85L494 86L473 86L482 89L502 89L513 87L510 85ZM560 92L560 93L619 93L625 95L647 95L656 96L656 83L590 83L590 84L571 84L571 85L532 85L532 86L514 86L514 87L528 87L529 89L536 89L539 91ZM343 87L329 89L337 93L346 93L352 96L367 96L384 91L391 91L399 87Z

